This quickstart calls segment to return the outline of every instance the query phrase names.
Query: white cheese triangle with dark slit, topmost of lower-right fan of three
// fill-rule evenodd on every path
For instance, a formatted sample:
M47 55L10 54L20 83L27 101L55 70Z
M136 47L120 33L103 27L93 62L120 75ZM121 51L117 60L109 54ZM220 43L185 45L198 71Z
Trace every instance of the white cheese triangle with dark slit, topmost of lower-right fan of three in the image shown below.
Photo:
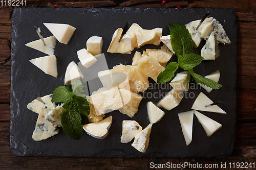
M224 110L222 110L217 105L205 107L205 106L210 105L212 103L214 103L214 102L212 102L204 93L201 92L197 96L197 99L195 100L191 109L206 111L206 112L215 112L215 113L227 114Z

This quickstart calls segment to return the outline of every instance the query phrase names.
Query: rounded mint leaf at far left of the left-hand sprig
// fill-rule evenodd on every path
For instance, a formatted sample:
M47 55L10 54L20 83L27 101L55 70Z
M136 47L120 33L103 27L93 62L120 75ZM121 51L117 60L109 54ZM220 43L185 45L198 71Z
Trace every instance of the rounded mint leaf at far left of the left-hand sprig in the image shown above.
M73 101L70 92L64 86L57 87L52 93L52 102L59 103L69 103Z

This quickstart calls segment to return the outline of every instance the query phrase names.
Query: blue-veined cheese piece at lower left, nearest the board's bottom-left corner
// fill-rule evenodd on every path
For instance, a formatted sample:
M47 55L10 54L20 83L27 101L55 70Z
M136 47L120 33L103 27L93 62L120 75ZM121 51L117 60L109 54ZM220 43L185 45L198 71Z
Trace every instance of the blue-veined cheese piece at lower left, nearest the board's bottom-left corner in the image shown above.
M36 121L35 130L32 134L32 138L35 141L45 140L59 133L59 129L45 119L46 114L46 109L41 108Z

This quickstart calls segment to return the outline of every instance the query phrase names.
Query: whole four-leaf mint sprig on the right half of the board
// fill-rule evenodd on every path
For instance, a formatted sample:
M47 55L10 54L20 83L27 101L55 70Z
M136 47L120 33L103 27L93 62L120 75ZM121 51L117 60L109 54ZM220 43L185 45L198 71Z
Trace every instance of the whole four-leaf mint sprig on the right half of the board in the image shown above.
M157 77L157 83L165 83L173 79L179 67L188 70L190 75L198 82L212 89L219 89L221 84L196 74L193 68L203 61L203 57L193 53L194 42L190 33L180 23L169 23L170 43L172 44L178 62L169 63Z

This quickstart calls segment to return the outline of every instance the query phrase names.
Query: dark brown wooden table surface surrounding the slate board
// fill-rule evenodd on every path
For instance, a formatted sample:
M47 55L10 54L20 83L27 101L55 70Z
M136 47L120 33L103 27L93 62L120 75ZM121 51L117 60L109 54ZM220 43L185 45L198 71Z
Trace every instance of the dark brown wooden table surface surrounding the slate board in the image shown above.
M15 6L1 6L0 1L0 169L150 169L154 163L209 163L242 162L256 166L256 1L255 0L201 0L167 1L54 1L58 8L72 7L141 7L141 8L233 8L238 26L237 56L237 125L236 141L231 156L223 159L121 159L121 158L56 158L18 157L11 153L10 128L10 70L11 70L11 16ZM54 4L45 0L27 0L26 7L49 7ZM216 169L219 169L216 168ZM235 167L238 169L237 167ZM243 169L243 168L242 168ZM250 168L248 168L250 169ZM252 168L251 168L252 169Z

